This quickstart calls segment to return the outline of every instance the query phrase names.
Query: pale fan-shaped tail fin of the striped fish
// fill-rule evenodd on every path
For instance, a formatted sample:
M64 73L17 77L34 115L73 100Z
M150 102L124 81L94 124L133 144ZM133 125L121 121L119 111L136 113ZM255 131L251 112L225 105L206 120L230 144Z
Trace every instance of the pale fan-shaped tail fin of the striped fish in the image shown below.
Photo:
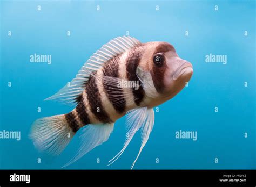
M30 138L39 151L59 155L74 134L62 114L37 119L32 125Z

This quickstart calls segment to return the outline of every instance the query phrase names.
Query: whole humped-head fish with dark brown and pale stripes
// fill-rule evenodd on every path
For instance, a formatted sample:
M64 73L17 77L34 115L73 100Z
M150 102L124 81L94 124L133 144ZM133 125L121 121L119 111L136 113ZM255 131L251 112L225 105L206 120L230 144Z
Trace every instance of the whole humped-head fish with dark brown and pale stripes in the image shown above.
M107 141L114 123L126 116L124 146L107 166L123 154L140 130L142 141L133 169L152 132L154 107L176 96L192 74L192 64L181 59L168 42L114 38L90 56L72 81L45 99L74 105L74 109L37 119L30 138L39 151L59 155L77 135L78 150L66 167Z

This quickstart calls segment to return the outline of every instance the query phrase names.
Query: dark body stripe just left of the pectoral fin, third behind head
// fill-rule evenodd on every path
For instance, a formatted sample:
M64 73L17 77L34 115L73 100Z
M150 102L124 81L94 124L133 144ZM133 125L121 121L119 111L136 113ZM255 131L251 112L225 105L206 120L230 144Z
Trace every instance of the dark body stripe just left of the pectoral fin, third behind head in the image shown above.
M86 87L87 99L89 100L89 104L91 106L91 112L95 114L99 121L102 123L110 123L112 122L107 115L106 111L102 106L102 101L100 99L99 90L95 82L95 77L90 77L90 80Z

